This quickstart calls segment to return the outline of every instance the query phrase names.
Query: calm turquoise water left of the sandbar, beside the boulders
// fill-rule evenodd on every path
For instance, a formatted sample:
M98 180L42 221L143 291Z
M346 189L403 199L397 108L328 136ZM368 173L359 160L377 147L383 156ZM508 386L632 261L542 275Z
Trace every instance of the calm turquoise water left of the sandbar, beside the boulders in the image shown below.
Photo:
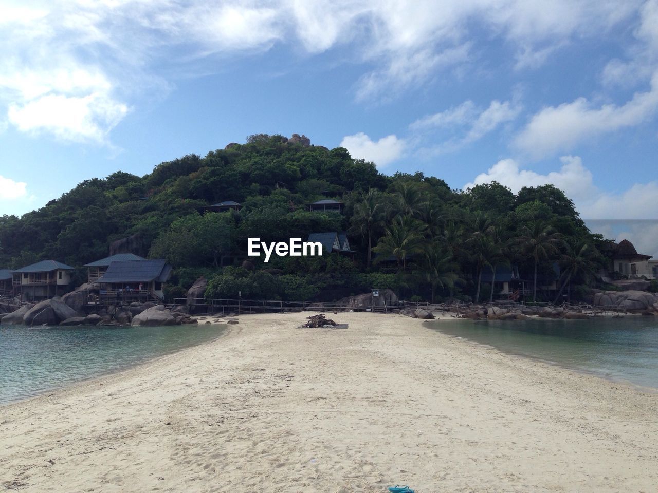
M0 404L216 339L225 328L0 325Z

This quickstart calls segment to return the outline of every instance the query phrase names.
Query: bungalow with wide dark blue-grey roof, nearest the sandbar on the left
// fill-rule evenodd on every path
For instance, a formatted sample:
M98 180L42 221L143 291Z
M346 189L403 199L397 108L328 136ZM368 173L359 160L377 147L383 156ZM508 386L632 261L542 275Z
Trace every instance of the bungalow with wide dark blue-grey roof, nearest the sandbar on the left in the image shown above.
M163 283L170 274L171 266L163 259L115 260L95 283L105 300L163 300Z

